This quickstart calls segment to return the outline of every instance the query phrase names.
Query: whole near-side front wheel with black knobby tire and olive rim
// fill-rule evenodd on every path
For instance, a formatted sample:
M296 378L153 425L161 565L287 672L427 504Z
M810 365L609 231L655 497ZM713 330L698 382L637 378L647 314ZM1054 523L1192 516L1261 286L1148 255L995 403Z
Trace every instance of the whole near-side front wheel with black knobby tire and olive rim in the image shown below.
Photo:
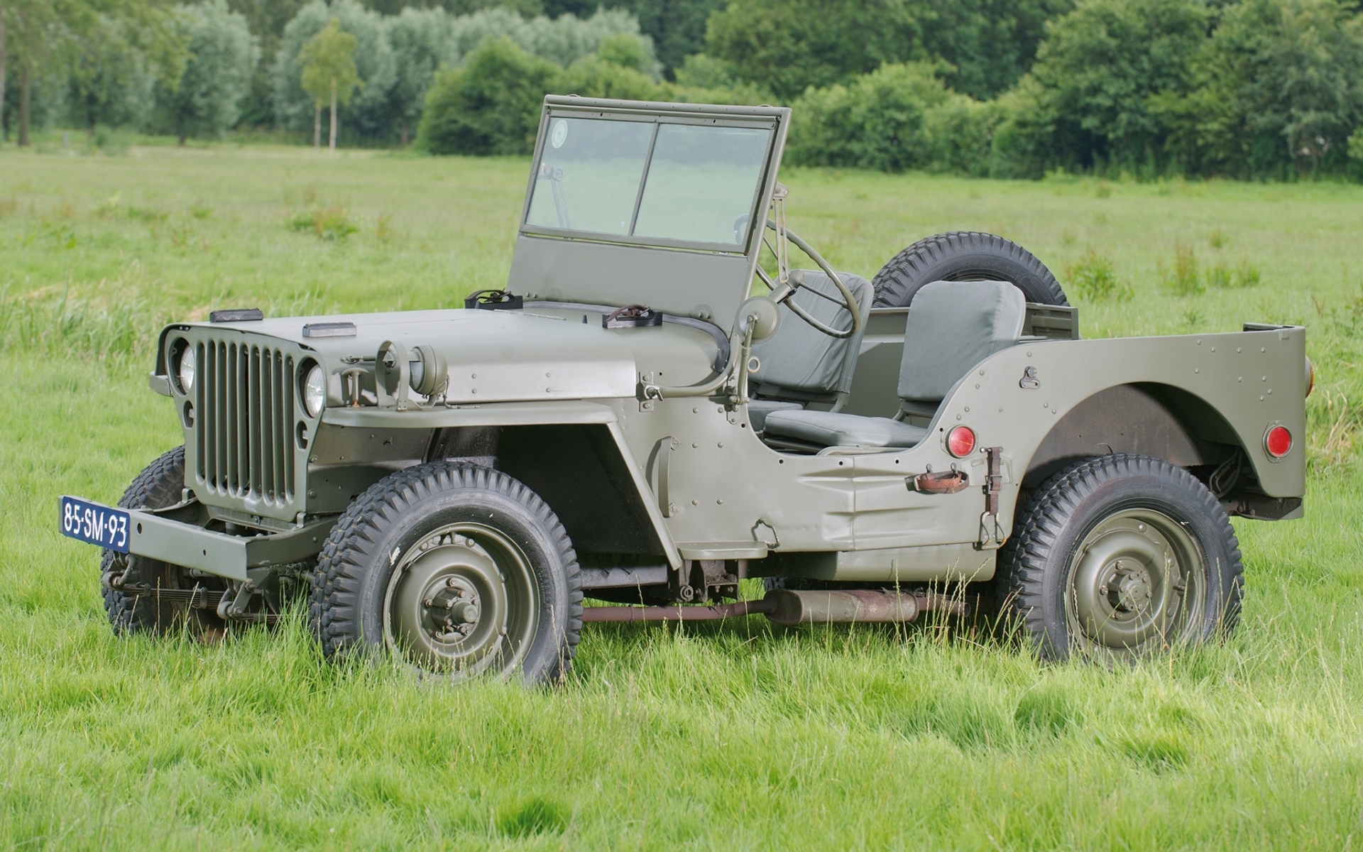
M322 548L309 622L328 658L391 656L448 682L562 680L582 628L577 555L533 491L432 462L360 495Z

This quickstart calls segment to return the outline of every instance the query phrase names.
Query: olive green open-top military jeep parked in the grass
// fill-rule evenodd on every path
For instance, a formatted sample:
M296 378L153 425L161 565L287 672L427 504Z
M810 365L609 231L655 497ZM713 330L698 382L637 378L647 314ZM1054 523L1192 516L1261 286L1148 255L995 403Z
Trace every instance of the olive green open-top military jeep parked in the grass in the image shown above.
M548 97L504 289L166 327L184 446L61 502L114 628L293 592L327 657L529 683L583 622L977 608L1048 658L1232 628L1228 515L1302 511L1304 329L1081 339L983 233L836 271L786 228L789 119Z

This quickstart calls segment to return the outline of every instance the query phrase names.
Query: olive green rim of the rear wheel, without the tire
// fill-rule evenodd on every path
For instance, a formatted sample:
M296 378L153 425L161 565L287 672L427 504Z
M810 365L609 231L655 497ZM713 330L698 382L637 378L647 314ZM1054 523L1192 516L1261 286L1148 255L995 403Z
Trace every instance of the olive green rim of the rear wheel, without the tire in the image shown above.
M1193 536L1164 513L1129 508L1079 543L1065 593L1071 641L1094 652L1139 653L1195 634L1206 573Z

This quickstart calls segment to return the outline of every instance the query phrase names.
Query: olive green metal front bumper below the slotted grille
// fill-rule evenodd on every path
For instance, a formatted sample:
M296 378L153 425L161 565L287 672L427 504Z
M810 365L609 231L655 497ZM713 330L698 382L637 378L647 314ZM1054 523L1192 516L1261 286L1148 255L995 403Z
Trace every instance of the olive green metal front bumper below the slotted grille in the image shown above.
M109 508L91 500L85 502ZM258 568L311 559L322 549L322 543L337 522L337 515L328 515L284 533L230 536L180 519L184 515L203 514L194 511L196 508L202 510L191 502L158 510L117 510L128 513L128 553L247 581Z

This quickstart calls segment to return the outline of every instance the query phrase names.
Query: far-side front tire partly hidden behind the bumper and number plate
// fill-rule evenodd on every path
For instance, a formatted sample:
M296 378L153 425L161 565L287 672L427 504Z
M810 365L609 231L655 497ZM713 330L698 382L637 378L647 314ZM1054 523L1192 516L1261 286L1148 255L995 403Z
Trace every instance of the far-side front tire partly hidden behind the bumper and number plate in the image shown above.
M121 508L166 508L180 502L184 491L184 447L165 453L138 474L119 500ZM191 607L185 592L199 586L221 592L217 579L195 579L189 570L168 562L104 551L99 559L104 609L116 634L165 634L184 626L204 638L224 630L222 619L211 607ZM120 585L146 586L146 590L114 589ZM164 594L168 593L168 594Z

